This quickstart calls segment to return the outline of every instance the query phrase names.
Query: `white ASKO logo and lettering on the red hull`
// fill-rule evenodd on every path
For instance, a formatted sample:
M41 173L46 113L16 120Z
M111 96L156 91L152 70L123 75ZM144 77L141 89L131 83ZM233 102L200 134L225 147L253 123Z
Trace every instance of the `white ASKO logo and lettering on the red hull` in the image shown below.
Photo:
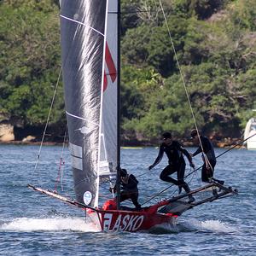
M143 215L121 215L114 220L112 213L105 213L102 221L103 231L136 231L143 224Z

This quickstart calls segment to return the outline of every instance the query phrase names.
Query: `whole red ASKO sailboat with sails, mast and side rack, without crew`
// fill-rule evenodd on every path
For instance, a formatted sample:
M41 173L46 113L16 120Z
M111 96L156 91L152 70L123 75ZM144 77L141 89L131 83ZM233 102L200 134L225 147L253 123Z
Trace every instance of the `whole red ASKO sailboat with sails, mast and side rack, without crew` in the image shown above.
M120 204L119 21L118 0L61 0L62 75L76 199L28 187L79 207L99 230L135 232L175 224L183 212L236 191L209 183L139 210ZM113 209L99 203L101 183L106 180L117 186ZM184 201L212 187L218 187L218 195ZM112 195L108 192L108 196Z

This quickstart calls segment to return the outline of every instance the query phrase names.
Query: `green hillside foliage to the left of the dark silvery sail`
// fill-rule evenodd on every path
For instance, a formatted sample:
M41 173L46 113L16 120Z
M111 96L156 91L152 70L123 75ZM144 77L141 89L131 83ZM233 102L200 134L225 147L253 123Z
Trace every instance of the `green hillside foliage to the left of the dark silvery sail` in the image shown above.
M60 69L56 11L49 0L13 0L0 6L0 111L25 124L44 124L49 112ZM63 106L57 108L61 112Z

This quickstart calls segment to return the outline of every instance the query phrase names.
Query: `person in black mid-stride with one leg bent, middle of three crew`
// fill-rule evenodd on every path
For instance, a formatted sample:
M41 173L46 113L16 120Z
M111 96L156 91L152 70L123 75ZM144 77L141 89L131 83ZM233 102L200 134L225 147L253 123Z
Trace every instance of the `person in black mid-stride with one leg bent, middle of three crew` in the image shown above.
M189 193L189 185L184 182L184 173L185 173L185 160L183 154L189 160L190 166L195 167L189 152L183 148L183 146L177 141L172 140L171 132L165 132L162 135L163 143L160 145L160 150L157 158L154 160L154 164L149 166L148 169L151 170L154 166L160 163L164 153L168 157L168 166L160 173L160 179L168 183L173 183L179 187L179 193L181 193L182 188ZM177 172L177 180L170 177L172 173ZM189 195L189 203L195 201L195 198L192 195Z

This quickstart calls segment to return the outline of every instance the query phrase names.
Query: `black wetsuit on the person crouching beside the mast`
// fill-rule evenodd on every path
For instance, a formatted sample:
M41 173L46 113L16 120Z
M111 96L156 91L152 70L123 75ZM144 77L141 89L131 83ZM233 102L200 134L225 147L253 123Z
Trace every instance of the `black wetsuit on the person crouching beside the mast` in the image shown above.
M138 189L137 189L137 178L130 174L128 177L128 183L120 182L121 192L120 192L120 201L125 201L131 199L135 207L140 208L141 205L138 203ZM114 191L116 186L114 187Z

